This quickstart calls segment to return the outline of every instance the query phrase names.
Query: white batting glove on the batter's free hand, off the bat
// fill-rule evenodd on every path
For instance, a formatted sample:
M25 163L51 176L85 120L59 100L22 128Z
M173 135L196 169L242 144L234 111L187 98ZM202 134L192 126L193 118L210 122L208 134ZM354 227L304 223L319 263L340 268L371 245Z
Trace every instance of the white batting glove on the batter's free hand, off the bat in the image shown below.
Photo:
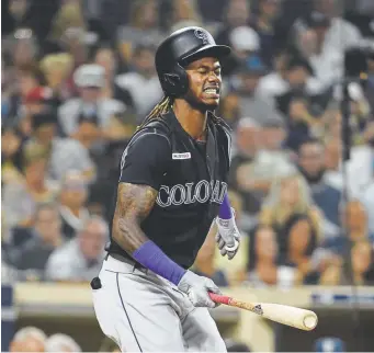
M216 242L223 257L231 260L238 252L240 246L240 234L235 223L235 209L231 208L233 217L230 219L222 219L216 217L218 231L216 234Z

